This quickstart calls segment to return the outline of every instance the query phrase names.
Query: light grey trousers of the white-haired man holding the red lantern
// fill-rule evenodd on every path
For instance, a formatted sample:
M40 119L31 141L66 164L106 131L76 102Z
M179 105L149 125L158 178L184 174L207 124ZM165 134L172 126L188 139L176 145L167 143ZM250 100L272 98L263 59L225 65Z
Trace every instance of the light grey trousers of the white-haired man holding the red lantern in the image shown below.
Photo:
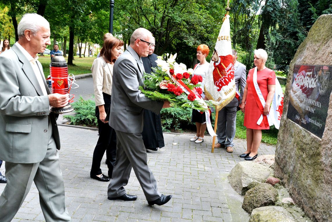
M65 207L63 178L59 155L48 125L49 140L45 158L40 163L6 162L7 185L0 196L1 222L10 222L23 204L32 182L39 191L41 210L46 222L71 221ZM38 146L38 141L36 141Z

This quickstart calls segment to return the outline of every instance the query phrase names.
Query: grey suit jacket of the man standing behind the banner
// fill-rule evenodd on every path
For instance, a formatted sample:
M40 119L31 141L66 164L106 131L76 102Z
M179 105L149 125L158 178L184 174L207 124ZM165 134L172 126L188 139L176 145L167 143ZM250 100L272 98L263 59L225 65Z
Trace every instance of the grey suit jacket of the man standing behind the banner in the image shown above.
M236 61L234 64L234 78L236 85L236 92L240 94L240 102L242 101L242 96L244 92L244 87L246 86L246 66L241 62ZM240 91L239 91L240 89ZM226 105L226 107L238 107L239 101L234 97L234 99Z

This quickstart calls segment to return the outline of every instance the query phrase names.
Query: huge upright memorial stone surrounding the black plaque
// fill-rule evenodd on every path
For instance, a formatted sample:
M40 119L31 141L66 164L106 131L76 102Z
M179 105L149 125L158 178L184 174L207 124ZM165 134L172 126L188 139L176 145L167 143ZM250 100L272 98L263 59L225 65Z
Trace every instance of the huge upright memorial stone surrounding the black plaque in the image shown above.
M290 121L287 111L294 64L332 65L331 36L332 14L322 15L290 62L276 146L275 176L283 181L294 202L313 221L332 221L332 97L322 139Z

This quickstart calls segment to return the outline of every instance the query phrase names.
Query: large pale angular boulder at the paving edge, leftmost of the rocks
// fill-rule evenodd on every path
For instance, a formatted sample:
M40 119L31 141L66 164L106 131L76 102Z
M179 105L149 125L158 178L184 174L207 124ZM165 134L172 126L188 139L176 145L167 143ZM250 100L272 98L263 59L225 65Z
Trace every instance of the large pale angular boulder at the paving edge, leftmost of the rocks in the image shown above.
M270 174L270 168L252 161L242 161L233 167L228 180L236 192L244 195L248 189L264 183Z

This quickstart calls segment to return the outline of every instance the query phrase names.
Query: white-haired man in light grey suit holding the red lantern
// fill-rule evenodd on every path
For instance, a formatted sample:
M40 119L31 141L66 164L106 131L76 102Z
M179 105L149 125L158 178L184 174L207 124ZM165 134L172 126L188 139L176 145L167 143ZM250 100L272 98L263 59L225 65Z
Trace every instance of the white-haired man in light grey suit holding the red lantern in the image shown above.
M0 55L0 159L6 161L7 185L0 196L2 222L11 221L32 182L39 191L45 221L71 221L65 207L60 171L59 132L49 107L64 107L68 94L50 94L37 60L50 44L48 22L26 14L19 40Z

